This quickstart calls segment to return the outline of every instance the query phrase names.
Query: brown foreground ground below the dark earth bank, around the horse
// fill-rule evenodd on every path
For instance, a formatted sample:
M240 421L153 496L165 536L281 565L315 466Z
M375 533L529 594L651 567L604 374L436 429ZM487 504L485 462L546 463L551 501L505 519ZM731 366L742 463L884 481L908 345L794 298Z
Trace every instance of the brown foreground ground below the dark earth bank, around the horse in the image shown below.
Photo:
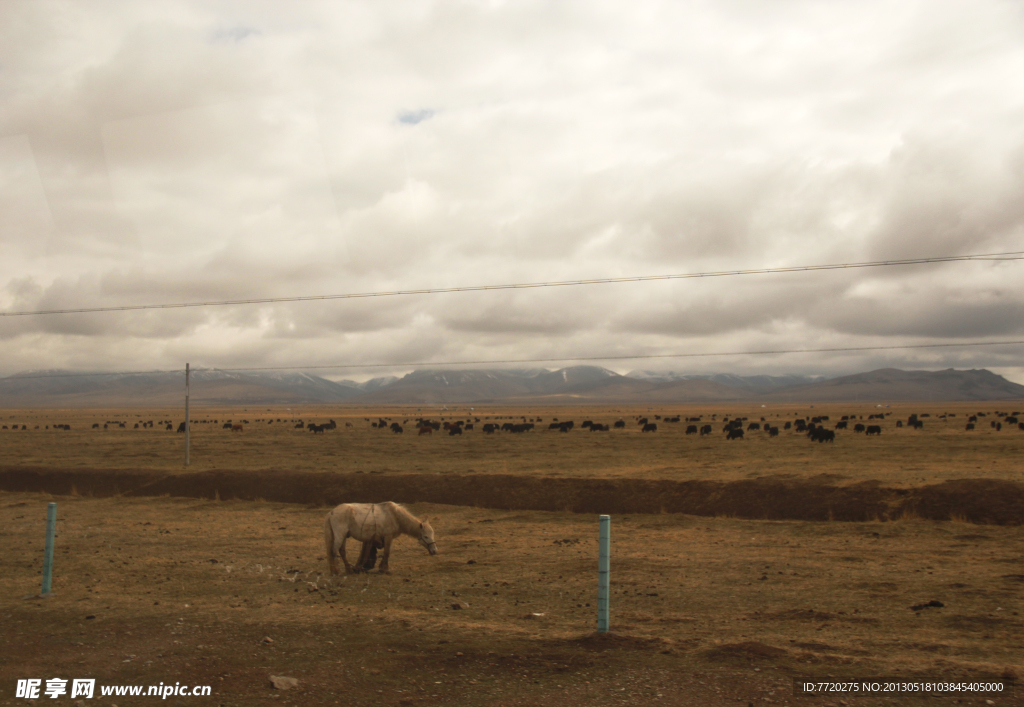
M54 595L23 598L39 591L50 500ZM615 515L598 635L593 515L414 505L438 555L403 538L391 575L332 579L327 510L0 492L0 704L26 704L14 685L31 677L212 687L169 704L1024 704L793 689L1019 677L1021 527Z

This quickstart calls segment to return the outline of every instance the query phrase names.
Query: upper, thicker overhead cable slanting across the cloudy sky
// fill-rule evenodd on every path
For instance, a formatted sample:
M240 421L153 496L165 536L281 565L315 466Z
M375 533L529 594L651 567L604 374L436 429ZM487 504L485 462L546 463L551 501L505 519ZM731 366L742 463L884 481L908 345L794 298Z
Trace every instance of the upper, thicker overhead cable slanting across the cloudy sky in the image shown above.
M175 302L165 304L124 304L119 306L80 307L76 309L41 309L34 311L0 311L0 317L31 317L40 315L82 315L97 311L131 311L135 309L181 309L200 306L229 306L236 304L278 304L282 302L309 302L325 299L362 299L368 297L396 297L418 294L445 294L451 292L484 292L488 290L528 290L541 287L572 287L578 285L610 285L612 283L649 282L655 280L691 280L695 278L725 278L739 275L774 275L779 273L813 273L856 267L887 267L893 265L925 265L939 262L967 260L1021 260L1024 251L1009 253L979 253L975 255L949 255L931 258L901 260L874 260L870 262L839 262L824 265L790 265L786 267L761 267L755 269L717 271L710 273L684 273L681 275L644 275L631 278L594 278L591 280L562 280L541 283L514 283L509 285L471 285L465 287L425 288L420 290L392 290L385 292L354 292L348 294L307 295L302 297L260 297L250 299L222 299L206 302Z

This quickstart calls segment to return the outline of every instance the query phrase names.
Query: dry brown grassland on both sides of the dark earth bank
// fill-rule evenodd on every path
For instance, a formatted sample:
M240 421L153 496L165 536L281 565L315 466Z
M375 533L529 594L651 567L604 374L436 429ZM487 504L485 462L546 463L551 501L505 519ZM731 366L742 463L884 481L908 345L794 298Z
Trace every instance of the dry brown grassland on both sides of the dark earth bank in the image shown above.
M399 476L414 474L438 483L482 475L499 493L516 479L754 480L763 489L777 481L784 495L794 480L908 491L965 479L1024 481L1024 431L989 425L992 413L1013 412L1013 404L474 407L481 421L458 438L421 438L412 422L393 434L370 421L468 419L464 409L194 410L194 420L218 422L193 426L187 470L181 434L133 428L150 419L177 426L180 412L3 411L3 424L29 429L0 429L0 482L8 489L0 491L0 704L24 704L13 698L14 683L30 677L213 688L212 697L169 704L1024 704L1020 688L1016 695L942 696L803 696L793 688L800 676L1019 679L1019 521L912 512L858 523L758 519L663 512L653 504L615 513L611 632L596 634L597 523L590 513L395 498L429 516L439 554L401 538L392 574L331 578L323 518L336 498L109 495L96 483L103 470L199 477L232 469L276 474L285 485L299 472L393 479L396 495ZM839 430L833 444L785 431L727 442L721 432L724 416L777 424L828 415L831 427L843 414L880 412L892 413L881 436ZM977 412L989 414L966 431L967 415ZM928 413L925 427L896 428L910 413ZM684 434L685 422L662 420L656 432L643 433L635 424L640 414L702 415L701 424L717 417L714 433L699 438ZM482 423L496 416L543 422L522 434L484 435ZM549 431L554 417L577 428ZM618 418L625 430L580 429L584 419ZM115 419L126 428L91 428ZM231 432L221 429L227 419L249 422ZM295 429L293 419L335 419L338 428L314 435ZM72 429L52 429L57 423ZM29 468L81 473L82 483L47 490L59 496L10 490ZM54 595L25 599L39 591L51 500L58 504ZM988 500L999 499L975 499ZM911 609L933 600L943 606ZM273 690L270 675L295 677L298 687ZM95 702L157 699L97 695Z

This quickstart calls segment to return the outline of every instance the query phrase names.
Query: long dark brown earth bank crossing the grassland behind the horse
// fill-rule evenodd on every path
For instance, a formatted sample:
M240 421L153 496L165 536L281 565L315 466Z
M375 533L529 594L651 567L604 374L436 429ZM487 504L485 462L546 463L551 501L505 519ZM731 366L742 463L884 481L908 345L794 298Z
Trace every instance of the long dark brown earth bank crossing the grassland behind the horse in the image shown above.
M1024 484L964 479L915 489L877 482L835 486L827 479L674 482L476 474L310 473L216 470L0 468L0 489L84 496L183 496L285 503L444 503L577 513L690 513L754 519L935 521L1020 525Z

